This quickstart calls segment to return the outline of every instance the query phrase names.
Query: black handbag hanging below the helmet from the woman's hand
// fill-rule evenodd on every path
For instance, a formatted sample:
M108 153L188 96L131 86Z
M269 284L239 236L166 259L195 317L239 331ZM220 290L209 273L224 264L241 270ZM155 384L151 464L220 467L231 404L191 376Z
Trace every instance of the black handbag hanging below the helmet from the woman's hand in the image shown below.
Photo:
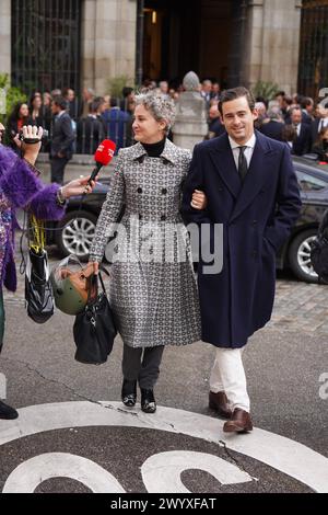
M98 281L103 289L101 293ZM101 365L112 352L117 330L101 273L92 275L89 282L87 304L84 311L77 314L73 325L75 359L80 363ZM93 298L91 291L95 291Z

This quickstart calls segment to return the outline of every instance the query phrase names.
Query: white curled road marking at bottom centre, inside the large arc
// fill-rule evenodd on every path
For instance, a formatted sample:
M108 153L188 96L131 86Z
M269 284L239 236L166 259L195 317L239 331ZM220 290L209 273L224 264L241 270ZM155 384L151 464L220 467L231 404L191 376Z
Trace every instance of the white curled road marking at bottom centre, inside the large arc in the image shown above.
M141 467L143 483L149 493L190 493L181 481L185 470L204 470L221 484L251 481L251 477L218 456L190 450L171 450L148 458Z

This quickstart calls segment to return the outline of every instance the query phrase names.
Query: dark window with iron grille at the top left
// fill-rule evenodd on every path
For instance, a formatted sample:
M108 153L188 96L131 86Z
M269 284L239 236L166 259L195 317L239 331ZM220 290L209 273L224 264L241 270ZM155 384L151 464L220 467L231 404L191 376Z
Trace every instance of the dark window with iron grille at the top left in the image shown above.
M81 0L12 0L12 83L80 90Z

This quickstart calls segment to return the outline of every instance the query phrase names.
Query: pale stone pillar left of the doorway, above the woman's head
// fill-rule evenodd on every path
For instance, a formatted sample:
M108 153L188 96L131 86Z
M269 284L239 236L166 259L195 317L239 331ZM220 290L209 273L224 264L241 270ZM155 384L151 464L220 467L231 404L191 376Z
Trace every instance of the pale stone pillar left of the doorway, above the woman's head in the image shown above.
M108 92L108 79L134 79L137 0L84 0L82 87Z

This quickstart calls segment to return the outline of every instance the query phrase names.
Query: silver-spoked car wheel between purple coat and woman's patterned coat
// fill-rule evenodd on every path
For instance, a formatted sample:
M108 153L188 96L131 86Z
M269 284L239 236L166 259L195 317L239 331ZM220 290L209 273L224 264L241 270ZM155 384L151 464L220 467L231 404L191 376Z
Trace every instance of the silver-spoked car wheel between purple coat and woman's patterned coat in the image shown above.
M71 211L60 220L56 243L63 255L75 254L80 261L89 260L97 218L87 211Z

